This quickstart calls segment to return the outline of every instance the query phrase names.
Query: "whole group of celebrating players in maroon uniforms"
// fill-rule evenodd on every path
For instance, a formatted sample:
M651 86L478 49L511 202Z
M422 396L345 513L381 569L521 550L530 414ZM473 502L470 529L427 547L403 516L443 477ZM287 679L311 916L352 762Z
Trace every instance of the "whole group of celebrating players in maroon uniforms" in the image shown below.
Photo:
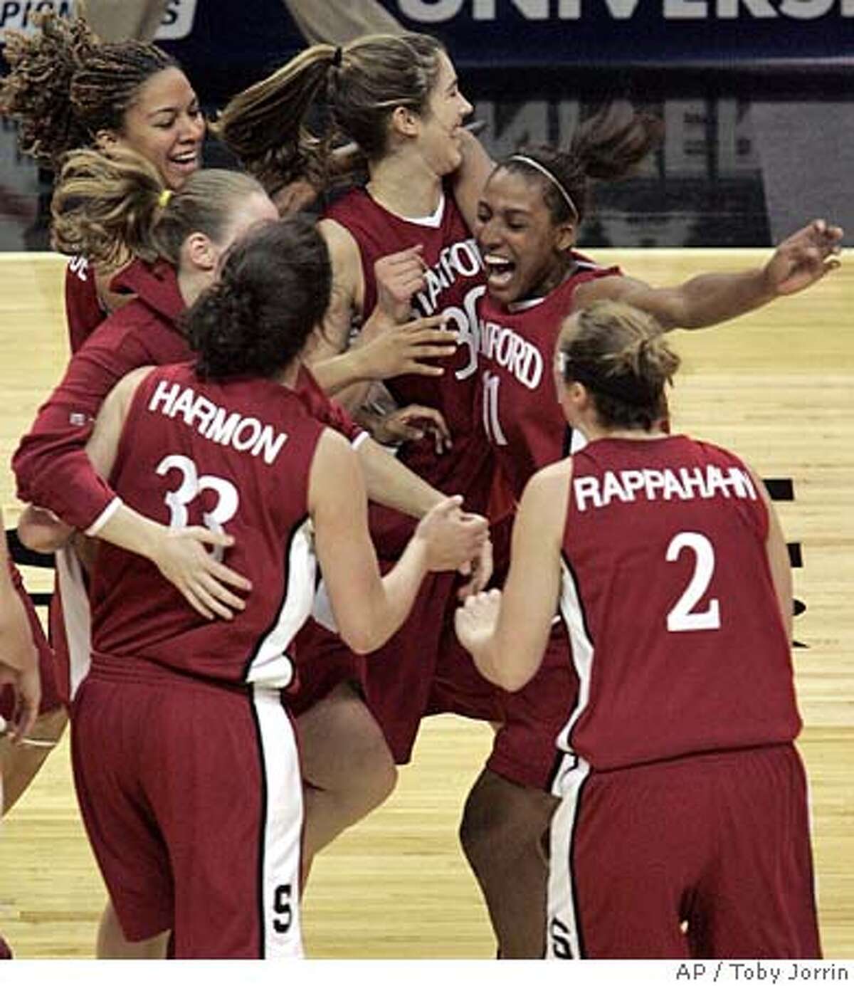
M752 470L672 432L664 333L811 286L842 231L603 267L589 184L658 121L493 162L429 35L235 97L234 171L153 44L48 15L5 58L73 257L12 462L56 591L48 648L4 559L7 808L70 718L99 955L302 954L312 859L450 712L495 730L460 834L500 956L818 957L788 555Z

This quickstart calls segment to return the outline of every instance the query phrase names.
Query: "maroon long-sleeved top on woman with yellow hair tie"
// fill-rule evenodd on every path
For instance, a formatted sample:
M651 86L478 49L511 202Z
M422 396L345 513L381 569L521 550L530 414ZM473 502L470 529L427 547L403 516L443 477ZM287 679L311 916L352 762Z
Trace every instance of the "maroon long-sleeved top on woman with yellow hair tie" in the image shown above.
M96 523L114 496L84 451L107 393L138 367L192 358L178 327L184 303L170 264L160 261L149 267L135 261L113 286L136 297L103 321L74 354L12 462L20 499L46 507L82 530ZM364 435L308 370L301 369L297 387L323 424L351 442Z

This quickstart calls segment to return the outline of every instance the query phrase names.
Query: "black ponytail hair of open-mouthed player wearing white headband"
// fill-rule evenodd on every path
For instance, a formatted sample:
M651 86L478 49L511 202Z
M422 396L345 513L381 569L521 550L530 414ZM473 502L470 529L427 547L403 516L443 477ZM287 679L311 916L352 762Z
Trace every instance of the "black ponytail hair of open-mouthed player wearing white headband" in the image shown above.
M554 181L513 155L499 162L496 171L503 169L535 178L552 221L571 220L580 226L590 207L591 179L615 181L628 176L660 143L662 133L663 125L657 117L635 112L623 102L612 103L576 129L568 148L539 144L520 150L521 155L544 168Z

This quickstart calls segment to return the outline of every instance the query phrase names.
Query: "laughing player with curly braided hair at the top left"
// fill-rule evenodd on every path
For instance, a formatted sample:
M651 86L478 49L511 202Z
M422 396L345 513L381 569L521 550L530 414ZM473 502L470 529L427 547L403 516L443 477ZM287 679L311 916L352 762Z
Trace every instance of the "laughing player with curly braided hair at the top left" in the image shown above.
M83 18L42 16L34 33L10 32L0 112L19 123L19 147L58 171L72 150L136 151L167 187L180 188L201 164L205 120L178 63L155 44L102 42ZM66 270L66 314L76 351L107 312L127 300L109 283L131 257L97 270L75 256Z

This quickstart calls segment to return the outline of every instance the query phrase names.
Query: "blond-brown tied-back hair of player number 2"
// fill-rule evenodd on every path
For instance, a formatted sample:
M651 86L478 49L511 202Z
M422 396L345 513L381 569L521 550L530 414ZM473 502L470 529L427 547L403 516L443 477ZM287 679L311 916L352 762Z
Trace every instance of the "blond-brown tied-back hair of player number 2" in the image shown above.
M665 385L673 383L679 358L648 313L597 302L564 321L558 351L564 381L591 391L605 427L650 431L667 417Z

